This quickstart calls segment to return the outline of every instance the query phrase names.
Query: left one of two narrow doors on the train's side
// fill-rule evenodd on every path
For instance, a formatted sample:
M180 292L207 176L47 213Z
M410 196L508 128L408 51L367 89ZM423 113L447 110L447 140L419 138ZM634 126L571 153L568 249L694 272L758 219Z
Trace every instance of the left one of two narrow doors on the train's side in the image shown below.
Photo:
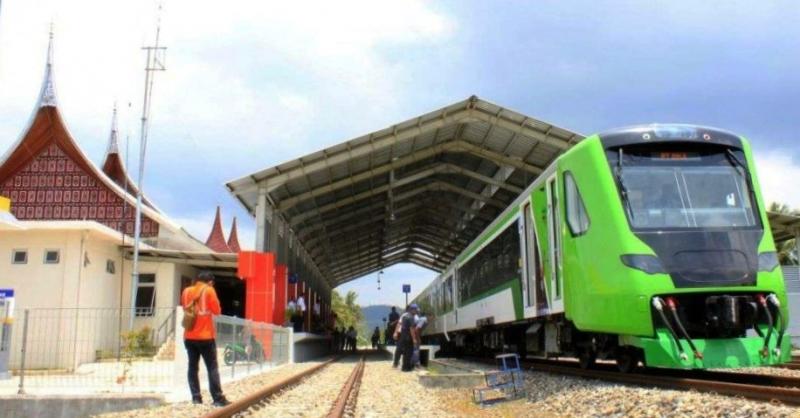
M539 234L536 233L533 210L531 204L526 203L522 208L522 242L525 266L522 281L523 302L525 317L533 317L547 308L547 296L544 291L544 277L542 274L542 260L539 252Z

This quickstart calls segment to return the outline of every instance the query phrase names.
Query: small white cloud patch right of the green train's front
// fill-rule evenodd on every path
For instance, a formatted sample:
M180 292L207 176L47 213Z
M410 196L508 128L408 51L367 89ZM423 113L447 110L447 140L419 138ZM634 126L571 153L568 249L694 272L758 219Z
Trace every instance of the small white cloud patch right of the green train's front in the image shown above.
M796 179L800 179L800 166L792 161L791 153L760 152L756 153L755 159L766 203L786 203L800 209L800 188L795 183Z

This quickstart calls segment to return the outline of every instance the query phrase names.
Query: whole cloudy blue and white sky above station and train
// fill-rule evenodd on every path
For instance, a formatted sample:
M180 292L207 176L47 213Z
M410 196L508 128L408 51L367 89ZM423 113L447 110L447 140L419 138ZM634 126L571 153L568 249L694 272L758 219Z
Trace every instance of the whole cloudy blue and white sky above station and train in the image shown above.
M5 0L0 153L37 99L50 23L59 106L100 163L114 103L137 155L152 0ZM649 122L747 136L768 201L800 208L796 1L164 0L144 190L205 239L214 209L254 221L225 182L472 94L584 134ZM124 147L124 146L123 146ZM129 168L136 169L135 158ZM402 304L435 273L412 265L342 286Z

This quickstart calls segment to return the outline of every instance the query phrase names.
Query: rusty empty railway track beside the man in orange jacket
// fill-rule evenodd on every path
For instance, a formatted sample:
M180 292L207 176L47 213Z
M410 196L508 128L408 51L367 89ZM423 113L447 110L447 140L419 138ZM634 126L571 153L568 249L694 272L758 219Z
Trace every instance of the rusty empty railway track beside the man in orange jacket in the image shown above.
M331 386L336 385L336 379L329 377L319 376L324 369L329 369L331 365L336 364L337 367L345 367L342 363L342 358L333 358L324 363L311 367L279 382L275 382L269 386L263 387L250 395L232 402L230 405L219 408L209 412L204 418L229 418L229 417L244 417L244 416L275 416L274 413L267 411L268 407L279 401L282 396L289 393L294 388L303 387L305 385L325 385L326 391L331 392ZM344 381L336 395L335 400L329 406L327 415L321 413L317 416L327 416L328 418L341 418L345 416L353 416L355 413L356 401L358 398L358 390L361 385L361 377L364 374L366 367L365 356L362 355L358 362L349 374L349 377ZM321 373L325 374L325 373ZM305 390L305 389L304 389ZM313 389L308 389L309 393ZM333 396L331 396L333 397ZM323 395L324 398L324 395ZM324 400L323 400L324 402ZM302 413L304 405L297 404L295 407L298 413ZM295 414L292 414L295 415Z

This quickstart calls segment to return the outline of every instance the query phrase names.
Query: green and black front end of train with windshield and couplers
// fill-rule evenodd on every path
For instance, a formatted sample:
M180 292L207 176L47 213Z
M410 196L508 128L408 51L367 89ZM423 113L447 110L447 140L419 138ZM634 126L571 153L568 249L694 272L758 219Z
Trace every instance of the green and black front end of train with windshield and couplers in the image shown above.
M786 292L747 141L689 125L600 140L630 230L651 250L622 254L622 264L643 281L664 278L640 287L653 336L620 345L638 347L655 367L788 361Z

